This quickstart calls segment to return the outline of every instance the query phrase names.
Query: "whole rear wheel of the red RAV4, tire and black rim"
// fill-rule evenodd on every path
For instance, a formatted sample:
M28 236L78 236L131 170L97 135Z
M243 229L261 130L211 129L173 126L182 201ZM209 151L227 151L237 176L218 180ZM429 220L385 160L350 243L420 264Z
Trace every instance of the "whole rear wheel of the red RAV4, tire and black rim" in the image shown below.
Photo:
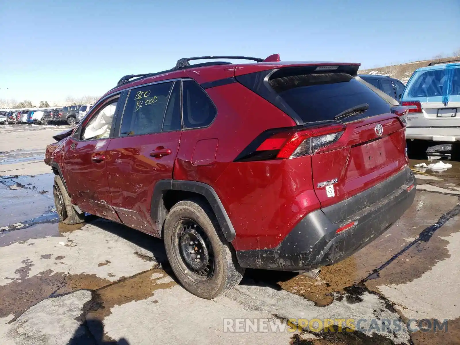
M203 241L196 241L196 235ZM230 244L221 235L213 211L200 200L179 201L171 208L164 225L164 241L169 264L179 282L190 293L213 299L242 280L244 269L238 264ZM195 244L192 244L193 241ZM203 242L205 247L202 246ZM190 248L190 252L184 247ZM195 259L192 261L201 264L197 253L202 253L201 260L207 262L204 269L192 268L186 262L185 255L193 255ZM206 260L207 257L209 260Z

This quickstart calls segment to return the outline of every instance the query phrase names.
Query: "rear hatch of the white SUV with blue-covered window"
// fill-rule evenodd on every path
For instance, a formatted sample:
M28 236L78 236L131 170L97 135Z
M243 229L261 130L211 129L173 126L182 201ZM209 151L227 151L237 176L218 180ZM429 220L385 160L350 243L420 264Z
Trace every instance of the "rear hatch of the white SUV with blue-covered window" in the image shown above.
M460 63L415 71L403 92L403 105L411 108L408 127L459 127Z

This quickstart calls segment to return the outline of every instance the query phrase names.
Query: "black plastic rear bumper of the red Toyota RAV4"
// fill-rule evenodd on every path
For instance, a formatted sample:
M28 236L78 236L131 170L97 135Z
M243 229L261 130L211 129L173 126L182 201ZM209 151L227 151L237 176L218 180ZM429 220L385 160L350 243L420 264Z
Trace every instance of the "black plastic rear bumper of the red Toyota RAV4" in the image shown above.
M356 196L309 213L275 248L236 251L238 262L247 268L290 271L333 265L390 228L412 205L415 185L406 167ZM352 221L357 224L336 234Z

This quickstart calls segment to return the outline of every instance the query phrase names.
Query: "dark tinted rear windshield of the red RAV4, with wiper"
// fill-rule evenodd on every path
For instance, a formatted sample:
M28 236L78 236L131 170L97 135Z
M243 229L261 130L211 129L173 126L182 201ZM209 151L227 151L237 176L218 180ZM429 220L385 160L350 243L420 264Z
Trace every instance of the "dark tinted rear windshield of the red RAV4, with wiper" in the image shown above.
M288 75L271 79L269 85L304 122L334 120L344 110L366 103L366 111L347 120L390 112L388 102L346 73Z

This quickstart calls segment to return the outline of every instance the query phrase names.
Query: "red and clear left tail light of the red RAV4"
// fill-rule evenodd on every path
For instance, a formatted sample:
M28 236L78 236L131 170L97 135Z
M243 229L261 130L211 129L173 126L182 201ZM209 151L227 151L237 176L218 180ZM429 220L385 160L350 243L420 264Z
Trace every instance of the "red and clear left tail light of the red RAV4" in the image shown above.
M345 125L327 124L305 129L280 129L263 132L242 151L235 161L259 161L313 155L335 143L345 132Z

